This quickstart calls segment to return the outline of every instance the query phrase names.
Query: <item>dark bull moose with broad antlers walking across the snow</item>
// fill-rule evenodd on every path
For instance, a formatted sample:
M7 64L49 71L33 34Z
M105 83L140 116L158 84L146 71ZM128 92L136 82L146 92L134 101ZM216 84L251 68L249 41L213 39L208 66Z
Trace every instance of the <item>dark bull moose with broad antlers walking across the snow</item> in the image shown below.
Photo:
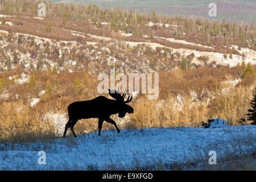
M126 93L119 93L118 91L109 89L109 95L113 99L106 98L104 96L99 96L89 101L77 101L73 102L68 106L68 122L65 125L65 131L63 138L67 133L68 129L71 129L73 136L76 137L76 134L73 130L73 127L76 125L76 122L80 119L89 119L89 118L98 118L98 135L101 135L101 128L104 121L112 123L117 129L117 132L120 133L120 130L117 127L117 123L110 118L110 115L117 114L119 118L125 117L126 113L133 113L133 107L127 105L126 103L133 100L133 95L129 96L125 101Z

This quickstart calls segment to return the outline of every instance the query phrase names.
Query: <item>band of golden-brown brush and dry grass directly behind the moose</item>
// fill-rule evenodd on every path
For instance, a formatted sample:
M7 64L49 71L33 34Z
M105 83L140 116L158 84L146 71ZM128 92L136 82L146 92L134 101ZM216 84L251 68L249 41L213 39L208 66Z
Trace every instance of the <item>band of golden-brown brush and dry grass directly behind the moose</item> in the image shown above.
M254 67L255 69L255 67ZM247 77L237 86L223 84L239 78L242 69L236 68L199 68L177 73L161 73L159 77L160 95L158 100L148 100L139 94L131 102L133 114L126 118L112 118L121 129L143 129L150 127L200 127L208 118L222 118L229 125L238 125L245 118L255 79ZM224 76L222 73L226 73ZM1 73L0 78L13 75L13 72ZM16 72L19 75L20 72ZM97 77L85 73L60 72L57 75L46 71L36 72L36 86L28 89L26 84L16 84L11 80L3 85L9 98L0 99L0 138L2 142L22 142L38 138L55 138L52 121L47 121L47 113L67 113L67 107L74 101L90 100L99 96ZM81 92L77 92L75 78L81 80ZM49 78L53 87L52 94L40 96ZM191 93L192 92L192 93ZM192 95L194 96L192 97ZM18 97L16 97L18 95ZM103 94L109 97L108 94ZM30 106L31 98L40 98L35 106ZM109 97L110 98L110 97ZM68 120L68 118L67 118ZM122 124L121 124L122 123ZM104 123L103 130L114 129ZM97 131L97 119L82 119L75 126L77 134Z

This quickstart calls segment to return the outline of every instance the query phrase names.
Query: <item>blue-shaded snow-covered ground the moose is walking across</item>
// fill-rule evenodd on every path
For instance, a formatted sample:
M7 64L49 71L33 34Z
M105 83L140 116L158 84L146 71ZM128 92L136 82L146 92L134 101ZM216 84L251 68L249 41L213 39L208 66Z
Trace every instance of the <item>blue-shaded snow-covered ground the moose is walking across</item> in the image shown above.
M130 169L154 164L208 164L209 152L219 159L253 154L255 126L223 126L215 129L175 127L102 131L40 140L34 143L0 144L0 170ZM38 164L39 151L46 152L46 164ZM255 162L255 158L249 159ZM255 165L254 165L255 166Z

